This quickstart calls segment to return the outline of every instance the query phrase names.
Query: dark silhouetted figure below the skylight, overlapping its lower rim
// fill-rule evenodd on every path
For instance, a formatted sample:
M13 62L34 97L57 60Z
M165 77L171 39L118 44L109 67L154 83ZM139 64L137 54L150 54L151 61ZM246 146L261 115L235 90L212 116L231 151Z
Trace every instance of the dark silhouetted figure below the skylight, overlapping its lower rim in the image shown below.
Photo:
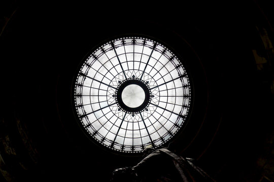
M143 151L145 157L133 167L113 171L113 182L213 182L203 170L193 164L193 159L183 158L167 149L151 146Z

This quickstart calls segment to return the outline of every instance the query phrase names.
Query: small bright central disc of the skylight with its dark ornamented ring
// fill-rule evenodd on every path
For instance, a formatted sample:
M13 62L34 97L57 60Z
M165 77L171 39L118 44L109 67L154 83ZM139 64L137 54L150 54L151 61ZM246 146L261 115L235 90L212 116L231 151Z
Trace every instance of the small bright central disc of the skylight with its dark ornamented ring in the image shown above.
M140 113L151 101L151 91L146 82L136 78L123 80L116 90L116 102L127 113Z

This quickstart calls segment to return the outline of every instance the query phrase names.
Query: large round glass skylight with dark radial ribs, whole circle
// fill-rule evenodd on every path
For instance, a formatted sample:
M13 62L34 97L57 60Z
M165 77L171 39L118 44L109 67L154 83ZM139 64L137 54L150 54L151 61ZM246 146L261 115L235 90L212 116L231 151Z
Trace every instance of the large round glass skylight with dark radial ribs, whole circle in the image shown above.
M77 120L95 143L140 153L183 128L192 95L189 75L171 49L152 38L125 36L99 45L83 60L73 97ZM135 99L140 104L130 107Z

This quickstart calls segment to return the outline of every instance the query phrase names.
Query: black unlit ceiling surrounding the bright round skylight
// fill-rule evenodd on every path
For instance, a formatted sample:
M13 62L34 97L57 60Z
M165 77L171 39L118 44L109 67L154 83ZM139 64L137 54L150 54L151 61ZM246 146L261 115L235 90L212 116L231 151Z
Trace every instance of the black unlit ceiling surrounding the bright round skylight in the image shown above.
M217 181L273 181L271 4L155 3L4 1L0 181L109 181L141 159L93 144L72 112L78 64L121 34L166 42L192 75L193 110L173 150Z

